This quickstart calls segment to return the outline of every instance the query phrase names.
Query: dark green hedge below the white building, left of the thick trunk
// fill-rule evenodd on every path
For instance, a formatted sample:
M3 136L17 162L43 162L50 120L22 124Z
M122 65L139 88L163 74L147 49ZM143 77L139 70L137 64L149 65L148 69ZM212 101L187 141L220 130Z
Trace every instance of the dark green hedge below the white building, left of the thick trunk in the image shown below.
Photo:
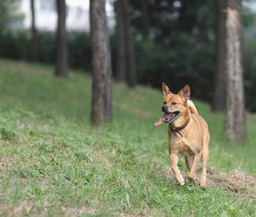
M30 32L27 30L5 31L0 34L0 56L11 59L32 60ZM39 61L55 63L56 37L49 32L38 33ZM88 33L71 32L68 35L69 64L74 68L90 69L91 39Z

